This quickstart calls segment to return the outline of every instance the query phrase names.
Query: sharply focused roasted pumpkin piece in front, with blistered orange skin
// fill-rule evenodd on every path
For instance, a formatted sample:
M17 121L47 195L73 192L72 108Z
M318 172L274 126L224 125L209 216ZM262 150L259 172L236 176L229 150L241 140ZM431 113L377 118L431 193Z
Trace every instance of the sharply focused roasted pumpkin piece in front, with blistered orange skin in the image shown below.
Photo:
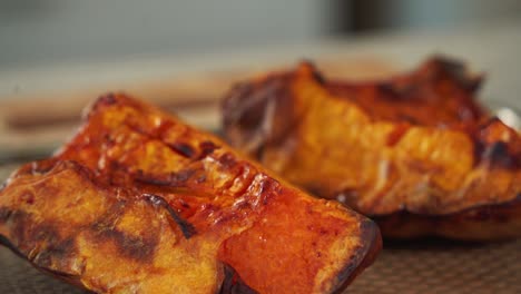
M10 177L0 235L98 293L333 293L381 247L367 218L124 95Z

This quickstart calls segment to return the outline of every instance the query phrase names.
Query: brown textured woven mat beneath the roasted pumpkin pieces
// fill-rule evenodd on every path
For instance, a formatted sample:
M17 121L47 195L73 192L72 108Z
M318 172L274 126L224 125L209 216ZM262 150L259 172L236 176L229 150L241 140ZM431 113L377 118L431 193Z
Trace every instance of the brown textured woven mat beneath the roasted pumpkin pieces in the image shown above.
M0 167L0 179L13 167ZM82 293L0 247L0 293ZM346 293L521 293L521 239L462 244L386 243Z

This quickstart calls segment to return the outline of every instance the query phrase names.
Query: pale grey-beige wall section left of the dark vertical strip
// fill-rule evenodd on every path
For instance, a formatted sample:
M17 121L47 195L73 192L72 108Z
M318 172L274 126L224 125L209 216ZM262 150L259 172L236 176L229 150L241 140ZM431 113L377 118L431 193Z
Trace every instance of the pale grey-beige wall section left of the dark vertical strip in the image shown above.
M0 70L226 50L321 35L314 0L0 0Z

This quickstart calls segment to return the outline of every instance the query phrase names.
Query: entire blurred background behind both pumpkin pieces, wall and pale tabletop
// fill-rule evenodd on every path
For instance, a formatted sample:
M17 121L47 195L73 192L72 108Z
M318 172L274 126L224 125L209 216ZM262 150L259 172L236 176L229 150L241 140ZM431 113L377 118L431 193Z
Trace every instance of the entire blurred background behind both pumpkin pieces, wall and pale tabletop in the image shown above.
M488 104L521 108L515 0L0 0L0 161L48 154L106 91L218 128L233 82L303 58L376 78L445 53L486 72Z

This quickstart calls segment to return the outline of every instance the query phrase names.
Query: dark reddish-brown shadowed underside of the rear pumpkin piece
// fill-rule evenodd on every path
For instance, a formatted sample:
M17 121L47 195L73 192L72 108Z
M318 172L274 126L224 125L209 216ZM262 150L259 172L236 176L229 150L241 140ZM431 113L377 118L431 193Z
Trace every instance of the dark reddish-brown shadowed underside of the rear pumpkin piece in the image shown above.
M512 239L518 237L518 234L502 234L490 236L454 236L453 234L446 234L446 232L439 231L440 226L451 225L458 227L459 224L470 224L480 226L483 222L494 222L500 224L508 224L511 219L514 219L521 213L521 193L504 203L500 204L484 204L475 205L465 208L460 212L441 214L441 215L422 215L415 214L407 210L399 210L387 215L373 215L371 219L376 222L382 231L382 234L386 237L402 239L402 238L422 238L426 236L438 236L442 238L461 239L469 242L481 242L481 241L502 241ZM407 224L415 224L414 233L402 235L400 234L401 228Z

